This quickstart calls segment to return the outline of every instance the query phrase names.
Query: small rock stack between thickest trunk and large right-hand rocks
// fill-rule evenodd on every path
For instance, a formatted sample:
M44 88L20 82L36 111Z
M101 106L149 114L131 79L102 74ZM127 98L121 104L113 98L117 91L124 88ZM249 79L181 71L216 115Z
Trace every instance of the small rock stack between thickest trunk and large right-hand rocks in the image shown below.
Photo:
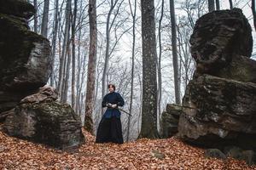
M160 137L170 138L177 133L177 123L182 112L181 105L167 104L160 121Z

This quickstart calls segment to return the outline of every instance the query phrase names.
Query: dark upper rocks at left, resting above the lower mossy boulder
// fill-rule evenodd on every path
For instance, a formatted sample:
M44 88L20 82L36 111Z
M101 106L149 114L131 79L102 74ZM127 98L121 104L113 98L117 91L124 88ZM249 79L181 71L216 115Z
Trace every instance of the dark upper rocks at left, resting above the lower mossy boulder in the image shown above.
M26 1L0 1L0 119L49 79L49 41L29 31L33 13Z

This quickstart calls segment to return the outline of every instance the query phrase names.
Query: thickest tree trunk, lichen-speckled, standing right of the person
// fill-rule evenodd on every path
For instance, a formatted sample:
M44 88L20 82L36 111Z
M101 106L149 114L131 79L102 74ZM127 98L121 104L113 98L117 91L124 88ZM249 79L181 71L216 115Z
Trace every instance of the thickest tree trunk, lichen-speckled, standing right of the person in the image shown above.
M139 138L155 139L157 131L157 81L154 0L141 0L143 37L143 115Z

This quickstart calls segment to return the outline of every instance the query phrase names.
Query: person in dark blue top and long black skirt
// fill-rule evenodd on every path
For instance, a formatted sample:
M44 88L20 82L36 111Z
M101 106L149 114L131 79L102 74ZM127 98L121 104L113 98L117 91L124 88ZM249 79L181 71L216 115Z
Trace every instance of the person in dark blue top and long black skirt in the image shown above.
M115 92L115 86L108 84L109 94L102 100L102 107L108 107L102 116L96 133L96 143L113 142L123 144L122 125L118 106L125 105L124 99L119 93Z

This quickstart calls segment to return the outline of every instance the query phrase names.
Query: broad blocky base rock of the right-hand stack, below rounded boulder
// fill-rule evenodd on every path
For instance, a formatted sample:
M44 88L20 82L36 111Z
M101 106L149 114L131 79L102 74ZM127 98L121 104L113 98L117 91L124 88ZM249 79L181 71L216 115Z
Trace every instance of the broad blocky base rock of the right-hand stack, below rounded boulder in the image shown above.
M256 84L203 75L189 82L178 133L194 144L256 149ZM250 139L250 142L247 141Z

